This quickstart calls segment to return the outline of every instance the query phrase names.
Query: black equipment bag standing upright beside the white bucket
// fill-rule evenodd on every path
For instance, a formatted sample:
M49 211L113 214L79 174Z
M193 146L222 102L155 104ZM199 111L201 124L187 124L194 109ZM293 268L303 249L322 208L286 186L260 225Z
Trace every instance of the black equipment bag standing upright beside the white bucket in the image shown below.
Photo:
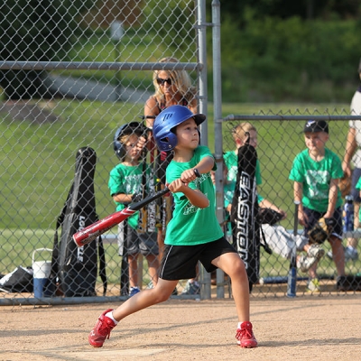
M75 176L68 198L57 220L51 262L51 281L57 280L65 297L97 296L97 257L99 275L106 295L106 261L101 236L96 242L78 247L72 236L98 220L94 192L97 154L90 147L78 150ZM60 242L58 228L61 227Z

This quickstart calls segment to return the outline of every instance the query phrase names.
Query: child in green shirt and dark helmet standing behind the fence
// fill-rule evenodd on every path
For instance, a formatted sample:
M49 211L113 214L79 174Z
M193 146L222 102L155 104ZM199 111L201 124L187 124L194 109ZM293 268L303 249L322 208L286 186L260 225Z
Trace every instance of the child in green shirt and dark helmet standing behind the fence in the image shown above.
M143 125L137 122L122 125L116 130L114 149L120 163L110 171L108 187L110 195L116 203L116 211L124 209L134 198L142 196L143 187L149 178L149 171L143 169L142 153L145 145ZM145 173L143 174L143 171ZM143 183L145 176L145 184ZM132 297L140 292L138 288L138 256L142 254L148 263L148 272L151 282L156 284L158 279L157 233L154 227L152 232L138 232L139 212L134 213L126 222L118 226L119 254L123 255L126 243L129 263L129 295ZM125 226L127 224L127 226ZM125 229L126 227L126 229ZM126 239L125 239L126 235Z

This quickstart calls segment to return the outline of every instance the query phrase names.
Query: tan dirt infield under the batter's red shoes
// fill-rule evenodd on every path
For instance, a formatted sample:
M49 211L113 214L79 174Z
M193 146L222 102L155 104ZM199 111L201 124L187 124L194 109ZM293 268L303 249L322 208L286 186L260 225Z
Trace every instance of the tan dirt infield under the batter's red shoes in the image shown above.
M103 348L88 345L114 304L2 306L0 360L359 360L361 297L252 298L259 347L236 346L230 299L170 300L124 319Z

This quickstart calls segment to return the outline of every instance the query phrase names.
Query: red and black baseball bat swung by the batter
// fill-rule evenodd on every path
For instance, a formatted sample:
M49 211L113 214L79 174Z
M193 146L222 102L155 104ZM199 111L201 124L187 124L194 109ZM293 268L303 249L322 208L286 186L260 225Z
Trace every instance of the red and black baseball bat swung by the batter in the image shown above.
M164 188L164 190L161 190L158 193L150 195L139 202L132 203L129 207L124 208L123 210L119 210L116 213L113 213L106 218L102 218L97 222L93 223L92 225L81 229L79 232L73 235L74 242L79 247L81 247L82 245L87 245L88 243L96 239L97 236L100 236L110 228L115 227L120 222L123 222L126 218L134 215L136 211L153 202L153 200L164 196L169 191L170 190L168 188Z

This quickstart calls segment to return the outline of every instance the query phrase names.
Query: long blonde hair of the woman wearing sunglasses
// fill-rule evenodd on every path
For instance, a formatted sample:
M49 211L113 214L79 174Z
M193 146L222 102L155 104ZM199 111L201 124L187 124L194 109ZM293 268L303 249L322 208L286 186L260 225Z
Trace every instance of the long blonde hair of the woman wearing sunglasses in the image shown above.
M162 58L159 62L180 62L176 58ZM163 101L165 99L163 88L157 83L158 74L161 71L165 71L168 77L171 79L171 84L174 84L180 93L181 97L187 100L188 104L191 104L195 97L197 90L191 85L190 75L186 70L154 70L153 71L153 85L155 88L154 96Z

